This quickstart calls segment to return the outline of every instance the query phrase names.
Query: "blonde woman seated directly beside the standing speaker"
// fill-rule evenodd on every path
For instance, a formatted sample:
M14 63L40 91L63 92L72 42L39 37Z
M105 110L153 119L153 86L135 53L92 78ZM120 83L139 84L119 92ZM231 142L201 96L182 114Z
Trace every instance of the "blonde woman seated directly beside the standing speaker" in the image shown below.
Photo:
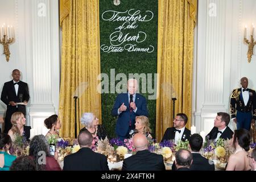
M144 134L146 137L152 139L150 122L146 116L140 115L135 118L135 130L131 130L131 137L136 133Z

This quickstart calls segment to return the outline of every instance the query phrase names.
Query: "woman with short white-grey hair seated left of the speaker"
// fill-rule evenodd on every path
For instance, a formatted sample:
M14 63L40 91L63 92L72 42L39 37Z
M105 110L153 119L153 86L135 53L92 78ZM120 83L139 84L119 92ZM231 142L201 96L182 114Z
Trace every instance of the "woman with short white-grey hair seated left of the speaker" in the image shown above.
M81 118L82 125L85 125L80 131L88 130L93 138L105 139L106 131L102 125L98 125L98 118L93 113L84 113Z

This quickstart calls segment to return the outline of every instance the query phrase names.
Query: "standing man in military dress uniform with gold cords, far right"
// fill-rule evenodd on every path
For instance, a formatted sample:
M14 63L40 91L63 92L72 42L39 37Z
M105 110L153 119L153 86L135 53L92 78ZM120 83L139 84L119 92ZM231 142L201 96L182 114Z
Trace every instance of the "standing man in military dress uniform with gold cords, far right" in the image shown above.
M238 129L250 131L256 119L256 93L248 88L248 78L241 78L242 88L234 89L230 98L230 114Z

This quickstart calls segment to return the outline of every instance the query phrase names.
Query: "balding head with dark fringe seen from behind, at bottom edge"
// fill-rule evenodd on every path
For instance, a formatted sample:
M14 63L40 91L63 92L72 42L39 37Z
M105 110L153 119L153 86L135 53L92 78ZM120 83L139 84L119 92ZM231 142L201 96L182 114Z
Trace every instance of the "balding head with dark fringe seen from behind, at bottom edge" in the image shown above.
M188 150L178 150L175 154L175 165L177 171L190 171L189 167L193 162L192 158L193 156Z

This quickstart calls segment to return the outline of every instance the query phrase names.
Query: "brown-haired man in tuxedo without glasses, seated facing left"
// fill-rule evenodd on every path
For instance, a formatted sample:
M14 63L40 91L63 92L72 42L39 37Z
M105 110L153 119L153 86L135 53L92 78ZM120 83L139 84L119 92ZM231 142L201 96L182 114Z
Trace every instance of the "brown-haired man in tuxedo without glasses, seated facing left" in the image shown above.
M230 139L233 136L233 131L228 127L230 121L230 116L228 113L217 113L214 119L214 127L210 133L206 136L209 140L214 140L215 142L219 139Z

